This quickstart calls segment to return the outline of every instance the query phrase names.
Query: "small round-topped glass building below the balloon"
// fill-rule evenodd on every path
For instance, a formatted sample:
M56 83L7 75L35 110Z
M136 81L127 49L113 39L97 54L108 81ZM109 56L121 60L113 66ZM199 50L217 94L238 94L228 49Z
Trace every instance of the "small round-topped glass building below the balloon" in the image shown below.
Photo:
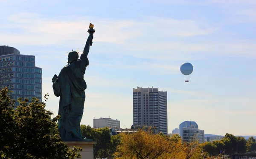
M185 121L179 125L179 133L183 141L191 142L198 140L204 142L204 130L198 128L198 124L194 121Z

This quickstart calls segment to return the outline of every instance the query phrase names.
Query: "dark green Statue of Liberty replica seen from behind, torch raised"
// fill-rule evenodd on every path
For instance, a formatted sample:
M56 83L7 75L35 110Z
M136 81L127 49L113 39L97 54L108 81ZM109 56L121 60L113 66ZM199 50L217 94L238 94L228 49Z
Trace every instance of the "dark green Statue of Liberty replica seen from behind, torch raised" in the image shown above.
M68 53L68 64L52 78L52 87L56 97L60 97L58 115L58 131L63 141L88 141L81 135L80 122L84 112L86 82L84 74L89 60L87 55L92 45L93 24L90 23L89 37L79 59L79 52Z

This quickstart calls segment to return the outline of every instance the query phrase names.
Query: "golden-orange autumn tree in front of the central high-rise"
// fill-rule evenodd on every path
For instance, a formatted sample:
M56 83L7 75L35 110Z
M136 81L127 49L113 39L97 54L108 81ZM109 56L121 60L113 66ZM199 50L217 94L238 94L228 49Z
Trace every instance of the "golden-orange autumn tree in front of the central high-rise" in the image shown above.
M154 134L151 130L121 133L115 159L200 159L198 142L183 143L180 136Z

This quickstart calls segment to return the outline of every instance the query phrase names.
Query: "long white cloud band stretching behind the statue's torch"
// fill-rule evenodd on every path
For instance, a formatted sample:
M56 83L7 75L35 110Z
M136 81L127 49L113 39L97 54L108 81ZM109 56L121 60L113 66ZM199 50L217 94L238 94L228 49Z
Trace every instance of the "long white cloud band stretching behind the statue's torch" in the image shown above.
M9 17L11 28L22 29L20 34L2 34L0 39L7 43L15 41L25 45L52 45L63 44L65 41L85 41L87 26L92 17L76 17L70 20L55 20L41 17L38 14L20 13ZM142 34L159 34L157 29L167 35L195 36L207 35L215 28L200 28L200 24L192 20L175 20L159 17L142 17L137 20L109 20L93 17L96 29L94 41L122 44L128 39L135 39ZM81 20L84 19L84 20ZM6 28L6 26L3 26ZM161 35L160 35L161 36Z

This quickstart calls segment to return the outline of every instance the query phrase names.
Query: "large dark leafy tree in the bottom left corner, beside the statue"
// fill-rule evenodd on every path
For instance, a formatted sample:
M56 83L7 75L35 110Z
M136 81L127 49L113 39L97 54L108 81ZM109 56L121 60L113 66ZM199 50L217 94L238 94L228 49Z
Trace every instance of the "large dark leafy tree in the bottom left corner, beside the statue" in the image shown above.
M58 116L45 109L39 99L15 100L4 88L0 94L0 159L75 159L81 148L71 150L61 141L57 130ZM2 127L3 126L3 127Z

